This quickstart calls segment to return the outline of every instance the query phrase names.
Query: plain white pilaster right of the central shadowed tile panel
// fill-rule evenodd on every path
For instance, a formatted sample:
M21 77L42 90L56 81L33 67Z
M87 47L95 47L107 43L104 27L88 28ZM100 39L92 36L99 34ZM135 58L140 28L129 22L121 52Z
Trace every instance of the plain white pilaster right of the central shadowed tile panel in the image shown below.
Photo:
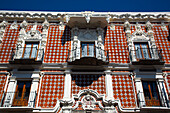
M111 71L110 70L106 70L105 74L106 74L106 76L105 76L106 99L107 100L114 100Z

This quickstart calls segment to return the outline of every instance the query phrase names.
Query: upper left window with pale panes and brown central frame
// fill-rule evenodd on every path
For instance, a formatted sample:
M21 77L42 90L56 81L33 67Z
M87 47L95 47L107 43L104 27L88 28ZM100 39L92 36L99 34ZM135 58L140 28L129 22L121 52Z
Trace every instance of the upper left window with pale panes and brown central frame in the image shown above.
M23 58L36 58L38 43L25 43Z

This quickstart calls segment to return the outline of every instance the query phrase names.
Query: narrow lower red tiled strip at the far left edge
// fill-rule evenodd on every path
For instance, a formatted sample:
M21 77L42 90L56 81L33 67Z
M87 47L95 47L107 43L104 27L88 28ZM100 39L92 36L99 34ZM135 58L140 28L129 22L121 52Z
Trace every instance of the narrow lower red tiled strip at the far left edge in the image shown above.
M4 93L4 87L6 83L6 75L0 75L0 102Z

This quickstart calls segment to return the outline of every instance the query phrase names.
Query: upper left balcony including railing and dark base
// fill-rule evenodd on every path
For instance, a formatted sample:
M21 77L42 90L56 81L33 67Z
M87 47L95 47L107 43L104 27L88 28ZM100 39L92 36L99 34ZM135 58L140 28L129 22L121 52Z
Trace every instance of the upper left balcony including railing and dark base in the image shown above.
M12 49L11 64L41 64L44 57L44 50L37 47L18 47Z

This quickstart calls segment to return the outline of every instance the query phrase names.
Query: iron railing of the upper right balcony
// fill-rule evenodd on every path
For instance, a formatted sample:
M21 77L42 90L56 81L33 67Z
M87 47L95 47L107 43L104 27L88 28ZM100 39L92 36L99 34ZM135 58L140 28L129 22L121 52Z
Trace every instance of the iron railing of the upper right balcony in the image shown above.
M136 50L130 50L131 61L143 60L160 60L163 61L162 50L157 48L138 48Z

